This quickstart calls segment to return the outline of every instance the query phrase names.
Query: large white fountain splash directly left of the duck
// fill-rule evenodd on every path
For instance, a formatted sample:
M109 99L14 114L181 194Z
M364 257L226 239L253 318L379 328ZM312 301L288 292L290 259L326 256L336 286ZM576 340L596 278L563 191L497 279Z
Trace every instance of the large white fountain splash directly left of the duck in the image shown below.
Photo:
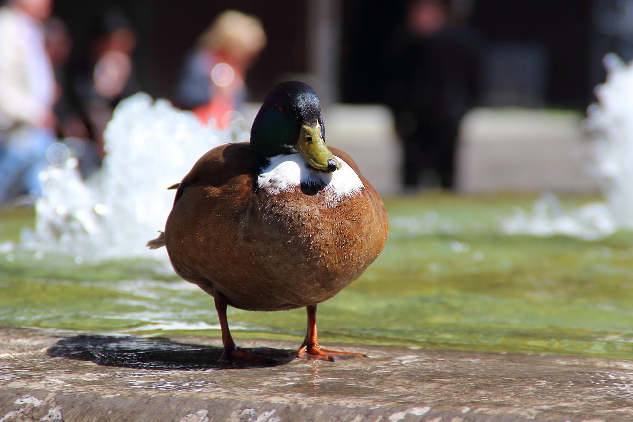
M138 93L117 106L104 132L101 170L82 180L77 160L51 166L35 203L35 231L25 230L20 248L63 253L83 260L153 257L156 238L173 203L166 188L189 172L211 148L244 140L240 129L218 131L166 100Z

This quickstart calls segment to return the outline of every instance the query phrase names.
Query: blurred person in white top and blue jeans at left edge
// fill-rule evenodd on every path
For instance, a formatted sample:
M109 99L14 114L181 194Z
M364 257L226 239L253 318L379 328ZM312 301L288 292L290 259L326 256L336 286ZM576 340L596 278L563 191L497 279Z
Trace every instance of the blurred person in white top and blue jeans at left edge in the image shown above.
M0 8L0 203L41 195L39 173L57 141L55 77L42 23L52 0L9 0Z

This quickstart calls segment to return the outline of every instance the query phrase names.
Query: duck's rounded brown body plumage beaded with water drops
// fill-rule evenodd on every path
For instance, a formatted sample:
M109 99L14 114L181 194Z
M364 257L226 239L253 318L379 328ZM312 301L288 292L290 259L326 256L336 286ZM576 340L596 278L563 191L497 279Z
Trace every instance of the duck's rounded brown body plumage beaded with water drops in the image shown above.
M334 155L360 174L342 151ZM270 195L256 188L263 163L248 144L204 155L180 183L165 244L182 278L246 310L323 302L365 271L387 238L384 205L365 192L336 201L320 191ZM378 222L379 224L376 224Z

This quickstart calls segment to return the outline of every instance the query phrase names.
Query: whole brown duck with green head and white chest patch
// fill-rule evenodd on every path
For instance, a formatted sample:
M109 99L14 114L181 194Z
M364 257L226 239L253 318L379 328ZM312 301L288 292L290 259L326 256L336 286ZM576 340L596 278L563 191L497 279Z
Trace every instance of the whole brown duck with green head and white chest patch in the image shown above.
M258 359L235 346L227 305L306 307L297 355L335 361L362 354L322 348L316 307L367 269L387 240L380 196L346 153L325 145L315 91L282 82L267 94L250 143L204 154L177 188L165 231L173 269L215 299L223 361Z

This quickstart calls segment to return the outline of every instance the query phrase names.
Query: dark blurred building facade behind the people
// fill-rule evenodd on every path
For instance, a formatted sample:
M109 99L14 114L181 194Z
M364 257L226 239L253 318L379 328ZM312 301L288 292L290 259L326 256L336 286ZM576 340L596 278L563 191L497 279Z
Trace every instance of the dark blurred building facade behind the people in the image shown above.
M325 101L380 103L384 39L406 0L57 1L80 49L94 16L122 10L139 34L142 87L170 98L182 58L222 10L259 16L268 35L248 75L252 99L273 82L303 75ZM633 0L453 0L486 40L481 103L584 110L605 77L602 57L633 58ZM307 74L307 75L306 75ZM310 80L312 78L313 80Z

